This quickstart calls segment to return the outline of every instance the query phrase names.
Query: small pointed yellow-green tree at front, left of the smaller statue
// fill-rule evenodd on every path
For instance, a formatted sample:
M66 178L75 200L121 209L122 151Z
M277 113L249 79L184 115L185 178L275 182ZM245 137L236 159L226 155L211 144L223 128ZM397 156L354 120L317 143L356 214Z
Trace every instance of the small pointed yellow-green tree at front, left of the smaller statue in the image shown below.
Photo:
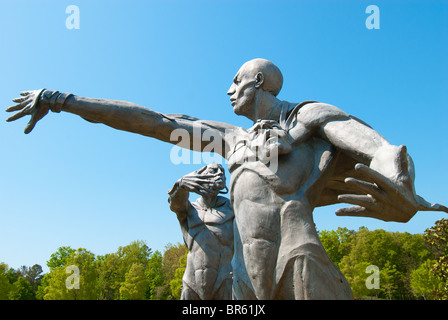
M143 265L134 263L120 286L120 298L122 300L144 300L148 282Z

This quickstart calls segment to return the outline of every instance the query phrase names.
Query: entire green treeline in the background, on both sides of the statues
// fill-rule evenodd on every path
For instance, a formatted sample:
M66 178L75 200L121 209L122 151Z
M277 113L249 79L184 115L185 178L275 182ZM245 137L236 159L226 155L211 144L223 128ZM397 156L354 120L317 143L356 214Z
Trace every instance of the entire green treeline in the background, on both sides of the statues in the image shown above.
M319 236L358 299L448 299L447 219L424 234L338 228ZM152 252L144 241L106 255L60 247L46 274L0 263L0 299L179 299L187 253L179 243Z

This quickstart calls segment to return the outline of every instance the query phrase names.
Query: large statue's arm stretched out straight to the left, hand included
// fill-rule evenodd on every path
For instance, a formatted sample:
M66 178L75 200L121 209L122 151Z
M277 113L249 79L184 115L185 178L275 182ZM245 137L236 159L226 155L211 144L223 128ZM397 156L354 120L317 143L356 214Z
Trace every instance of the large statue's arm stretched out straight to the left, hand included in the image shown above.
M58 91L24 91L20 98L13 101L18 104L7 108L6 111L17 112L7 121L30 115L31 120L25 128L25 133L31 132L36 123L50 110L65 111L91 122L103 123L118 130L138 133L172 144L178 144L181 136L188 136L187 141L181 141L179 145L195 151L203 151L210 143L211 136L216 139L214 144L221 147L214 151L225 156L225 151L231 147L226 144L232 141L227 139L226 135L236 129L235 126L222 122L202 121L182 115L164 115L131 102L85 98L61 94ZM204 134L206 131L208 133Z

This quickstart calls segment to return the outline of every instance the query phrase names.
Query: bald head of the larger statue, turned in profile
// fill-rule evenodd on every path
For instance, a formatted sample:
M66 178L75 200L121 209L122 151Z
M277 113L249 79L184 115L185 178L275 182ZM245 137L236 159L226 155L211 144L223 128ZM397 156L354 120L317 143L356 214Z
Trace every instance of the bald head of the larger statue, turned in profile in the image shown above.
M280 69L266 59L253 59L238 70L227 94L237 115L254 119L257 90L263 90L276 97L283 85Z

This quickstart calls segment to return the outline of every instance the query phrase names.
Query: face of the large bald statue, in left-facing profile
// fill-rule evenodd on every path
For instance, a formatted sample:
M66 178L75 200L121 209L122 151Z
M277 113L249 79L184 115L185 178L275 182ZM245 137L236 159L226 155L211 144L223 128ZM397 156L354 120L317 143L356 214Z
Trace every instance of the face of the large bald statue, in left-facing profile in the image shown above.
M257 91L255 75L243 65L233 78L227 94L233 106L233 111L237 115L246 116L249 119L254 117L255 93Z

